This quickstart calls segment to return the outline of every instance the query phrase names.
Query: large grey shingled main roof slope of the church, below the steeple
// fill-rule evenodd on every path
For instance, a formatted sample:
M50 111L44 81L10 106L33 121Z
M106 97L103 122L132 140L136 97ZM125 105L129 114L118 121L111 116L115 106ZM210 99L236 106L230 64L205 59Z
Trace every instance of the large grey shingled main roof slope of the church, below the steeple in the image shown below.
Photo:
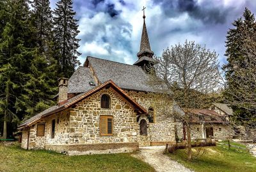
M113 62L95 57L87 57L92 68L99 79L104 83L113 80L122 89L140 90L145 92L161 92L163 87L159 89L149 84L150 76L138 66Z

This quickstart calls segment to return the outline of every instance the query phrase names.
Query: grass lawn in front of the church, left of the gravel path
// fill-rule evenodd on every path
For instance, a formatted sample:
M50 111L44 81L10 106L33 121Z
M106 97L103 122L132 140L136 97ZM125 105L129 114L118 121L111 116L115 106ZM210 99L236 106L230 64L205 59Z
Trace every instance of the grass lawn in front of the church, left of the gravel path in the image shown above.
M0 146L0 171L154 171L130 154L68 156Z

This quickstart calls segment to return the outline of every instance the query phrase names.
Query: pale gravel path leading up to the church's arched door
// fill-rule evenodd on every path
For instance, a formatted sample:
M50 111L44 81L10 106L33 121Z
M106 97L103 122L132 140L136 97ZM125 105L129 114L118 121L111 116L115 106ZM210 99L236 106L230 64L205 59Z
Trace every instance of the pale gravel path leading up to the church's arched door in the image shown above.
M192 172L190 169L185 168L182 164L173 161L168 156L164 155L165 147L140 147L140 152L133 156L147 162L150 166L154 167L156 171L168 172Z

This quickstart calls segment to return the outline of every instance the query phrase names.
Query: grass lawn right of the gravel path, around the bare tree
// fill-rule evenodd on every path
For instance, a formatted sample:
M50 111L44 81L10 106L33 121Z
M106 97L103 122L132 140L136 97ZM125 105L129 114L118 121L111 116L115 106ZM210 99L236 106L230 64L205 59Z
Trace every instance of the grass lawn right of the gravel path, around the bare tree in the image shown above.
M227 143L227 142L223 142ZM231 143L239 147L245 147L239 143ZM256 157L253 157L246 150L236 147L231 147L218 144L216 147L193 148L194 157L198 151L200 155L194 158L191 162L186 160L186 150L177 150L175 154L170 155L171 159L184 164L189 169L194 171L256 171ZM204 152L204 153L203 153Z

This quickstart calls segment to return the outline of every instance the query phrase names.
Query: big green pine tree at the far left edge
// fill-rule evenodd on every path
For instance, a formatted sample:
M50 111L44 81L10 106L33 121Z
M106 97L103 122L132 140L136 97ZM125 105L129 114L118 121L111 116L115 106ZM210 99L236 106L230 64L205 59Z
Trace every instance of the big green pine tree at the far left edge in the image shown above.
M0 42L0 84L3 88L0 97L0 113L4 115L3 138L6 138L8 121L18 117L13 106L22 90L23 75L28 69L29 58L26 54L31 54L29 36L33 34L29 29L27 1L8 1L4 15L9 18L3 27Z

